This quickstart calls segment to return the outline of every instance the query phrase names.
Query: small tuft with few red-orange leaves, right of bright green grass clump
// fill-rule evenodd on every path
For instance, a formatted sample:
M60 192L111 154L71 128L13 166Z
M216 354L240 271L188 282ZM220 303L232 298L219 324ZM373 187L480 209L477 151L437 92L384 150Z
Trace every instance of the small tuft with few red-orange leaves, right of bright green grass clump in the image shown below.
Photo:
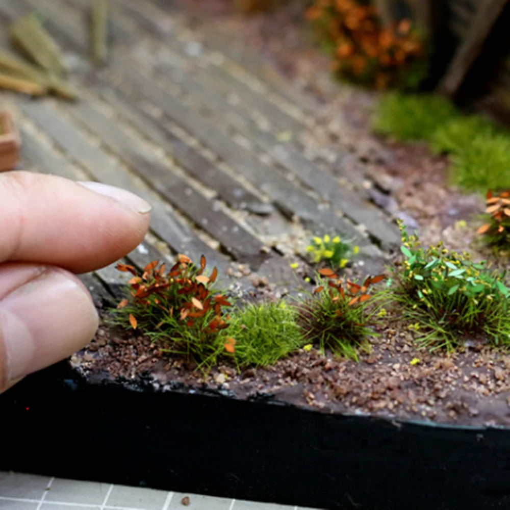
M336 354L358 360L358 348L368 349L366 339L373 335L371 323L377 311L368 302L372 285L385 278L380 274L365 279L362 285L342 280L331 269L321 269L320 285L313 296L297 305L297 323L305 341L330 348Z

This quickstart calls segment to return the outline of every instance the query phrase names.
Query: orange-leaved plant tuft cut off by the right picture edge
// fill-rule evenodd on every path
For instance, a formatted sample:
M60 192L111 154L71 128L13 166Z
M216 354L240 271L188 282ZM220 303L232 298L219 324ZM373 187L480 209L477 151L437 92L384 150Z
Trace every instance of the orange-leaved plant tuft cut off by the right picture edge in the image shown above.
M477 233L485 236L489 246L510 247L510 190L496 196L488 191L486 206L488 222L480 226Z

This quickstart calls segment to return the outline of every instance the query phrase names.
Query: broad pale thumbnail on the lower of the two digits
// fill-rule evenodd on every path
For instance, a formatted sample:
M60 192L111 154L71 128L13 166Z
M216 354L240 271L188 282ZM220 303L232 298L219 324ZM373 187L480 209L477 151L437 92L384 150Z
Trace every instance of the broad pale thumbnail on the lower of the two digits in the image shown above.
M0 301L7 386L81 349L97 324L88 292L70 273L48 268L23 283Z

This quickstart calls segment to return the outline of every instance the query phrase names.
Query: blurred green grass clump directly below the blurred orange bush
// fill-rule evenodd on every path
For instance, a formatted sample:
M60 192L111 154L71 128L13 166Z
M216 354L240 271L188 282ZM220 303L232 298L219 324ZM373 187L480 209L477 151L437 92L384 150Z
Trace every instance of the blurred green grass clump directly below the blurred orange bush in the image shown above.
M438 126L458 115L442 96L392 93L378 101L373 128L401 141L429 141Z

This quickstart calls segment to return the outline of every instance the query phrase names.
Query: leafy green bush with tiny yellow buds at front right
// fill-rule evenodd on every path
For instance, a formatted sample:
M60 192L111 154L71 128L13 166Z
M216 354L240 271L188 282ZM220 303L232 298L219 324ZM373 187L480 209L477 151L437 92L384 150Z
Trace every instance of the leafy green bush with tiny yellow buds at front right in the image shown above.
M468 253L423 248L418 238L402 231L401 267L394 267L394 295L407 318L423 330L422 345L430 349L461 345L481 336L493 345L510 345L510 308L504 273L491 272Z

